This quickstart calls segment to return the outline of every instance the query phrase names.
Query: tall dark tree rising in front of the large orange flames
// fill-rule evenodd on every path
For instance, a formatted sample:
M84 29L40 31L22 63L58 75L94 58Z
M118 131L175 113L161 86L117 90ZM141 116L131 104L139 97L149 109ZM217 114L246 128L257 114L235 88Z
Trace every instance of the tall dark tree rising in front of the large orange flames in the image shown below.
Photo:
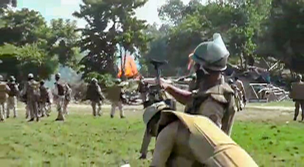
M84 77L90 72L114 75L118 58L115 56L117 44L131 53L135 48L145 50L145 21L135 17L135 9L146 2L147 0L83 0L80 11L74 12L74 16L87 22L84 29L79 29L83 36L79 41L81 52L88 51L80 62L80 71Z

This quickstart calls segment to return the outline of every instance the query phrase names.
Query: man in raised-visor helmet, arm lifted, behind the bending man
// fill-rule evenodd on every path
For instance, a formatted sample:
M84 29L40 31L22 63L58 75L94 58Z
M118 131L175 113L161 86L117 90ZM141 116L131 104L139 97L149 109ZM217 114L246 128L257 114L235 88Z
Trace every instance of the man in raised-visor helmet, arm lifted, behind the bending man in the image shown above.
M214 34L213 41L201 43L190 57L195 62L198 90L185 91L164 83L162 86L186 105L186 113L204 115L230 135L237 108L234 92L222 74L227 68L229 52L220 34Z

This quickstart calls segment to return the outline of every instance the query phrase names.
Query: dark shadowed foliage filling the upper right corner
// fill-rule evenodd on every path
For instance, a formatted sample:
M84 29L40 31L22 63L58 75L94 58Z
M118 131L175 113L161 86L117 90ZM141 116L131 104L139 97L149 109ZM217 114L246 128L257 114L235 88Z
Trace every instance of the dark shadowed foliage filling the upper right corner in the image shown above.
M304 72L304 2L274 0L259 52L274 56L295 72Z

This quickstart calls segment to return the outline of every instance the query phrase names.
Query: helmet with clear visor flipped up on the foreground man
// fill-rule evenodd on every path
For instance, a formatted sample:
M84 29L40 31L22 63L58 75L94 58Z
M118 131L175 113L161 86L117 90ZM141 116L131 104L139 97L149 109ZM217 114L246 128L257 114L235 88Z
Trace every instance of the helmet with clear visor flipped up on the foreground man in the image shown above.
M213 35L213 41L203 42L196 47L192 60L202 68L213 71L224 71L227 68L227 60L230 53L226 49L219 33Z

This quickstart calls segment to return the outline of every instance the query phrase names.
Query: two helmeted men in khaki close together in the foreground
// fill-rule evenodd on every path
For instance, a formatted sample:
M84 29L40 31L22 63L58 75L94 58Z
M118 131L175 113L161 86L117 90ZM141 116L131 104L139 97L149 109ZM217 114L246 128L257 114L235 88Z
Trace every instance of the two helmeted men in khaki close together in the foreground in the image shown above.
M235 92L222 74L228 57L216 33L213 41L201 43L191 55L197 76L193 91L161 84L186 107L185 112L175 112L159 102L145 110L140 158L146 158L150 138L156 137L150 166L257 166L230 138L237 106Z

